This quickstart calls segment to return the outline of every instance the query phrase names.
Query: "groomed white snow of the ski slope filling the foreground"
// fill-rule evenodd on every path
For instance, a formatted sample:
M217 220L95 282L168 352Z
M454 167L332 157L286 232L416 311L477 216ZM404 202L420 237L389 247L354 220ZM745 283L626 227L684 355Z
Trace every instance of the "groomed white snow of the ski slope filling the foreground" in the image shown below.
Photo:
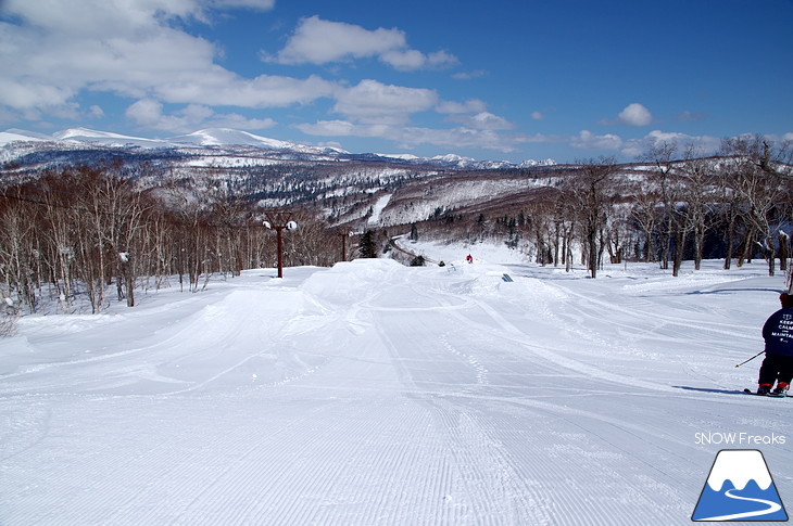
M22 319L0 524L685 525L744 448L793 502L793 401L740 394L759 359L735 368L781 278L590 280L475 248Z

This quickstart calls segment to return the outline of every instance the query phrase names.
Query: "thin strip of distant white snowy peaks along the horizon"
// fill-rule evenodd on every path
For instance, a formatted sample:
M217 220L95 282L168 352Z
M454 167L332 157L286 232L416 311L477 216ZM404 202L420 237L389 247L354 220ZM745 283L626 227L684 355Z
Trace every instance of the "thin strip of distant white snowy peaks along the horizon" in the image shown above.
M37 144L38 143L38 147ZM24 145L24 146L23 146ZM110 131L98 131L87 128L71 128L51 136L34 131L9 129L0 132L0 161L13 161L16 154L22 155L32 150L53 150L59 145L65 149L75 146L95 146L109 149L150 149L150 150L180 150L186 147L206 149L255 149L263 152L278 153L281 158L293 155L295 158L316 157L320 159L366 159L386 163L429 165L450 169L508 169L536 166L553 166L555 161L529 159L519 164L506 161L477 161L455 154L438 155L435 157L418 157L405 154L353 154L341 149L328 146L311 146L293 142L279 141L256 136L248 131L229 128L209 128L192 133L167 139L146 139L130 137Z

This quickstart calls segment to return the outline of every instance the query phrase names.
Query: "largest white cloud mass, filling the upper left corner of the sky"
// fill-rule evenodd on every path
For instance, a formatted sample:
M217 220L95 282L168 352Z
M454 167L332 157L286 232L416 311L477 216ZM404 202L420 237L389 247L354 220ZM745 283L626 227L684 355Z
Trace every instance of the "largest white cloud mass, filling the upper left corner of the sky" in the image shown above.
M18 23L0 23L0 107L17 118L76 115L83 90L162 102L240 107L305 104L332 97L335 82L262 75L215 63L212 42L172 26L209 9L272 8L253 0L8 0Z

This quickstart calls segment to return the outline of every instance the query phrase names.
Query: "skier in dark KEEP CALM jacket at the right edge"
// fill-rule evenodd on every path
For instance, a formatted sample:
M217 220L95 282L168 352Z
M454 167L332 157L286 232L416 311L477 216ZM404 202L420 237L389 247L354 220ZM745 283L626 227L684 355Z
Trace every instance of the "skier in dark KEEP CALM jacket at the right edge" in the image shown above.
M793 380L793 295L779 295L782 308L772 313L763 325L766 358L757 381L758 395L785 396ZM773 382L777 388L771 392Z

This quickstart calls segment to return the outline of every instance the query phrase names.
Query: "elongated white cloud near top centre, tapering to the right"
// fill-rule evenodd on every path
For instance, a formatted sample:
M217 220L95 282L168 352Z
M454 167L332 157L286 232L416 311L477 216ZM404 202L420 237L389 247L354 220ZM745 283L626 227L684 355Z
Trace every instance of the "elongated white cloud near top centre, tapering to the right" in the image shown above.
M392 28L374 30L311 16L303 18L287 44L274 57L280 64L327 64L350 59L379 57L386 64L413 70L455 64L457 59L438 51L425 54L408 48L404 31Z

